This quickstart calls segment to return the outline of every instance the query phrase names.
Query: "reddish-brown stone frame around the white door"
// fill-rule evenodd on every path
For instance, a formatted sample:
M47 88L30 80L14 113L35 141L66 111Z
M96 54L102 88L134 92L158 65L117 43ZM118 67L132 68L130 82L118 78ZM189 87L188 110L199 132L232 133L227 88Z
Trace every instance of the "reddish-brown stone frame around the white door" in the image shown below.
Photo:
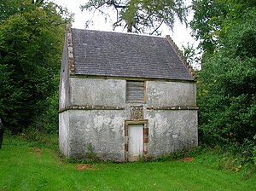
M128 126L129 124L143 124L143 158L147 159L148 155L148 119L125 120L125 162L128 162Z

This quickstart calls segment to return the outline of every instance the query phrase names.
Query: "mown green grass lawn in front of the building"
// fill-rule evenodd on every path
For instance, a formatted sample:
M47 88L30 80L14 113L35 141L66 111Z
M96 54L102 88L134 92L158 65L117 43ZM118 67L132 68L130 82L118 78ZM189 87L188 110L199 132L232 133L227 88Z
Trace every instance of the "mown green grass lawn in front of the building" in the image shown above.
M0 190L256 190L255 175L218 170L218 159L200 153L189 162L97 163L79 171L53 149L8 137L0 150Z

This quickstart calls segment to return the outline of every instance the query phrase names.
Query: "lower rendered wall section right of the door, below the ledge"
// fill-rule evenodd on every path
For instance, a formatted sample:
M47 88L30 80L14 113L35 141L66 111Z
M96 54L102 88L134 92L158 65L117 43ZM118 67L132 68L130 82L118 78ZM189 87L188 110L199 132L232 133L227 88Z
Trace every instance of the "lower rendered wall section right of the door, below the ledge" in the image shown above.
M197 146L197 111L195 110L148 110L148 155Z

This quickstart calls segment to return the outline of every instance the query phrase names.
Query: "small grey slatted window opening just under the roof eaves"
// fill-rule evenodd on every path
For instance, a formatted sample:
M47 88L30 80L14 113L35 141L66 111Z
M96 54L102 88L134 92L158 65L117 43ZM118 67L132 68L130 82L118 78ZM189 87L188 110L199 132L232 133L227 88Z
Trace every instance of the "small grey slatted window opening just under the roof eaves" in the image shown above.
M143 81L126 81L126 101L145 101Z

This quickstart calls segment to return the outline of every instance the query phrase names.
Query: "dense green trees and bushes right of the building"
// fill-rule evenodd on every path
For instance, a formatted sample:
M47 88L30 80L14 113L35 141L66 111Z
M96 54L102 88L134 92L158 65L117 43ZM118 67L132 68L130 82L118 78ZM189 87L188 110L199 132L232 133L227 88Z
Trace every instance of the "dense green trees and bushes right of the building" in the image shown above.
M195 0L194 4L192 28L205 50L198 80L201 139L252 156L256 4L249 0Z

